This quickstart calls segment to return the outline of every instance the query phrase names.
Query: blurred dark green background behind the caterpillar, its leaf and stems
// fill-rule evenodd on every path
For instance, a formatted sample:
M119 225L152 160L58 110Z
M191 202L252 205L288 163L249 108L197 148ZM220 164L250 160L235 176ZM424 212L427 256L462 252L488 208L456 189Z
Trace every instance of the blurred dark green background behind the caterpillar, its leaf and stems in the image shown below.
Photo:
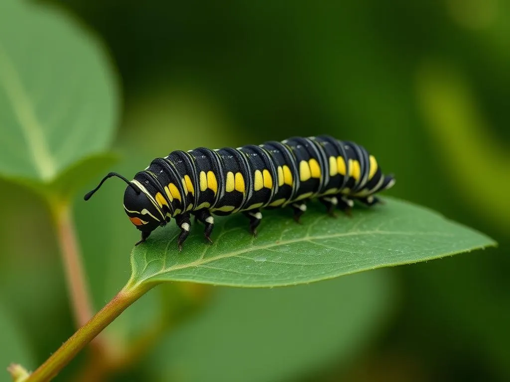
M327 133L374 153L392 196L499 242L298 287L159 287L108 328L119 357L140 342L108 380L510 380L510 2L38 3L109 50L123 98L113 169L126 177L175 149ZM46 207L0 186L2 347L34 369L73 322ZM123 189L75 202L95 309L129 279L138 232ZM57 380L86 365L85 352Z

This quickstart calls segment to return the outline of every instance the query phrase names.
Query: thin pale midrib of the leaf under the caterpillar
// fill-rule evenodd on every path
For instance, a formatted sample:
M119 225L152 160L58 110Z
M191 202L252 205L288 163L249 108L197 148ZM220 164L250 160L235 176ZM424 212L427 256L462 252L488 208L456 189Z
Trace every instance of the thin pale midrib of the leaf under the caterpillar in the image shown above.
M289 240L285 240L285 241L271 242L266 245L260 245L260 246L255 245L255 246L251 246L248 248L244 248L239 251L227 252L227 253L223 253L223 254L213 256L213 257L210 257L207 259L204 258L205 254L207 253L207 251L206 251L205 253L203 253L200 256L199 259L197 259L195 261L192 261L192 262L189 262L186 264L178 264L178 265L173 265L168 268L164 268L164 269L156 272L155 274L150 275L150 277L145 278L145 279L135 281L136 275L133 273L131 280L128 284L132 284L132 283L140 284L143 282L150 281L151 279L154 279L158 276L168 274L175 270L191 268L191 267L198 267L198 266L205 265L205 264L208 264L208 263L216 261L216 260L236 257L236 256L242 255L247 252L268 250L268 249L271 249L274 247L281 247L282 245L288 245L288 244L293 244L293 243L302 242L302 241L309 241L309 242L312 242L313 244L319 245L318 243L314 243L312 240L321 240L321 239L323 240L323 239L331 239L331 238L337 238L337 237L346 237L346 236L355 236L355 235L373 235L373 234L379 234L379 235L425 235L425 236L432 235L432 236L447 236L447 237L454 236L453 234L448 234L448 233L444 233L444 232L410 232L410 231L381 231L381 230L342 232L342 233L334 233L334 234L330 234L330 235L317 235L317 236L307 235L307 236L303 236L303 237L299 237L299 238L295 238L295 239L289 239ZM334 249L334 248L331 247L331 249ZM164 257L166 257L166 256L167 256L167 254L165 253ZM164 259L164 257L158 258L158 260ZM151 261L154 261L154 260L151 260ZM143 272L145 271L145 269L147 268L148 264L151 261L149 261L149 262L146 261L144 268L140 272L138 272L139 275L143 274ZM136 269L136 267L133 264L133 256L131 259L131 263L132 263L132 269Z

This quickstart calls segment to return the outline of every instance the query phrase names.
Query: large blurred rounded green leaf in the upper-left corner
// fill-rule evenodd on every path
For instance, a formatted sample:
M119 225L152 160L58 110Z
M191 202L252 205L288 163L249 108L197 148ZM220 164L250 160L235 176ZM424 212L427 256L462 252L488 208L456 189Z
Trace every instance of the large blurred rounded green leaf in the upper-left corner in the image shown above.
M118 105L98 42L62 12L18 0L2 2L0 36L0 175L50 183L104 152Z

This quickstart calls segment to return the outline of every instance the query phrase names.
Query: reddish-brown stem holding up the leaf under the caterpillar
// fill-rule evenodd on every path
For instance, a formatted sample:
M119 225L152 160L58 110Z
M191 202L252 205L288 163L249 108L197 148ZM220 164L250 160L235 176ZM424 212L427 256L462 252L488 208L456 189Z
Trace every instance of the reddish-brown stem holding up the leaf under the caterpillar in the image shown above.
M30 375L26 382L47 382L54 378L78 352L155 284L126 285L103 309L74 333L55 353Z

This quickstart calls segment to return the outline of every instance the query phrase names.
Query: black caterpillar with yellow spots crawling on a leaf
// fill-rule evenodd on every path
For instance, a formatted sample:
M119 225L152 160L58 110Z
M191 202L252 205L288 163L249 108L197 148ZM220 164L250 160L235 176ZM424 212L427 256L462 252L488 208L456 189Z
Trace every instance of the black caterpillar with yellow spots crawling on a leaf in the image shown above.
M181 229L179 250L189 235L191 215L205 225L204 236L210 242L212 214L242 212L257 235L261 208L290 206L299 222L305 202L318 198L329 214L335 208L349 213L354 200L372 206L380 202L374 194L395 183L393 176L382 174L365 148L328 135L237 149L173 151L152 160L132 181L109 173L84 199L114 176L127 183L124 210L142 236L135 245L173 217Z

